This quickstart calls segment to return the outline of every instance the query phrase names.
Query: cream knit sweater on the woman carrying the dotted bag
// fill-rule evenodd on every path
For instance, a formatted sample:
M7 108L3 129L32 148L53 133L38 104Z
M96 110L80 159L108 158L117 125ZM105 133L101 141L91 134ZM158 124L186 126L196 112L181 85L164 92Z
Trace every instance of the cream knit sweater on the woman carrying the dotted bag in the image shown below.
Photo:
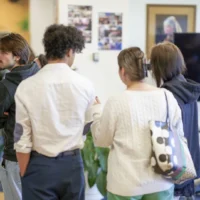
M173 95L166 93L171 123L183 135L180 108ZM137 196L168 190L173 186L150 166L149 121L166 120L164 89L125 91L110 98L102 114L100 110L100 105L93 106L91 129L96 146L111 146L108 191L121 196Z

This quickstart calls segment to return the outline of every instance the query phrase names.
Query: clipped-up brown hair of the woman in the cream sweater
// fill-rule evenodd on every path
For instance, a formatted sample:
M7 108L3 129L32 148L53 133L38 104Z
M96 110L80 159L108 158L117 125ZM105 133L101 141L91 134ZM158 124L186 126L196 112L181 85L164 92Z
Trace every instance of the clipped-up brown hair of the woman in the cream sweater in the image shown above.
M140 81L145 78L143 65L144 53L138 47L122 50L118 55L118 65L124 68L130 81Z

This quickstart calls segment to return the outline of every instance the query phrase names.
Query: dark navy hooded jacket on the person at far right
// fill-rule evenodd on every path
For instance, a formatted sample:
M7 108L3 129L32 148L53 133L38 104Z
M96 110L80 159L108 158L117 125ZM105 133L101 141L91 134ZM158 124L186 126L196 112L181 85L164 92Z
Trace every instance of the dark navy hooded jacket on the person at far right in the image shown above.
M186 80L179 75L163 84L164 88L171 91L178 101L182 111L183 129L188 140L188 147L200 177L200 148L198 134L198 107L197 100L200 96L200 84Z

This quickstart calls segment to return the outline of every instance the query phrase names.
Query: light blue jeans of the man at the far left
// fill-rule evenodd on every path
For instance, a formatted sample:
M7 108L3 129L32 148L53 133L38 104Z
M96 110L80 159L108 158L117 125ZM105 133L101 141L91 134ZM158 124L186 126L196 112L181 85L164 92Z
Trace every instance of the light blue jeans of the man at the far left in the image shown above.
M0 181L4 200L22 200L21 178L17 162L5 160L5 166L0 166Z

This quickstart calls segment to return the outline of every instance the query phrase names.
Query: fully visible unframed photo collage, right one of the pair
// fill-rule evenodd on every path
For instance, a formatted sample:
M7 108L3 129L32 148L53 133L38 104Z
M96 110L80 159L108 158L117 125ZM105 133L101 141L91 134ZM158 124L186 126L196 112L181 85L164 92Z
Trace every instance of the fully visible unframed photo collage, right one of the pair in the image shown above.
M99 13L98 49L122 49L122 13Z

